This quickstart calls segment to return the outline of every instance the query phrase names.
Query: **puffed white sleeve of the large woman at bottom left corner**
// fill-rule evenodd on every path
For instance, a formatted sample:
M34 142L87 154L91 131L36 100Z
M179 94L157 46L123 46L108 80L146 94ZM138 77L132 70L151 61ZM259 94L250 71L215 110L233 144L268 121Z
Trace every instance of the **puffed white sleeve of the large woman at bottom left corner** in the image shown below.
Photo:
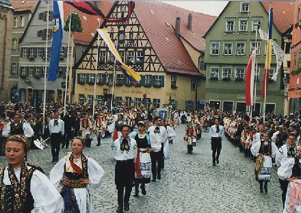
M34 206L40 213L58 213L64 209L64 201L51 181L40 171L34 171L31 177L31 195Z

